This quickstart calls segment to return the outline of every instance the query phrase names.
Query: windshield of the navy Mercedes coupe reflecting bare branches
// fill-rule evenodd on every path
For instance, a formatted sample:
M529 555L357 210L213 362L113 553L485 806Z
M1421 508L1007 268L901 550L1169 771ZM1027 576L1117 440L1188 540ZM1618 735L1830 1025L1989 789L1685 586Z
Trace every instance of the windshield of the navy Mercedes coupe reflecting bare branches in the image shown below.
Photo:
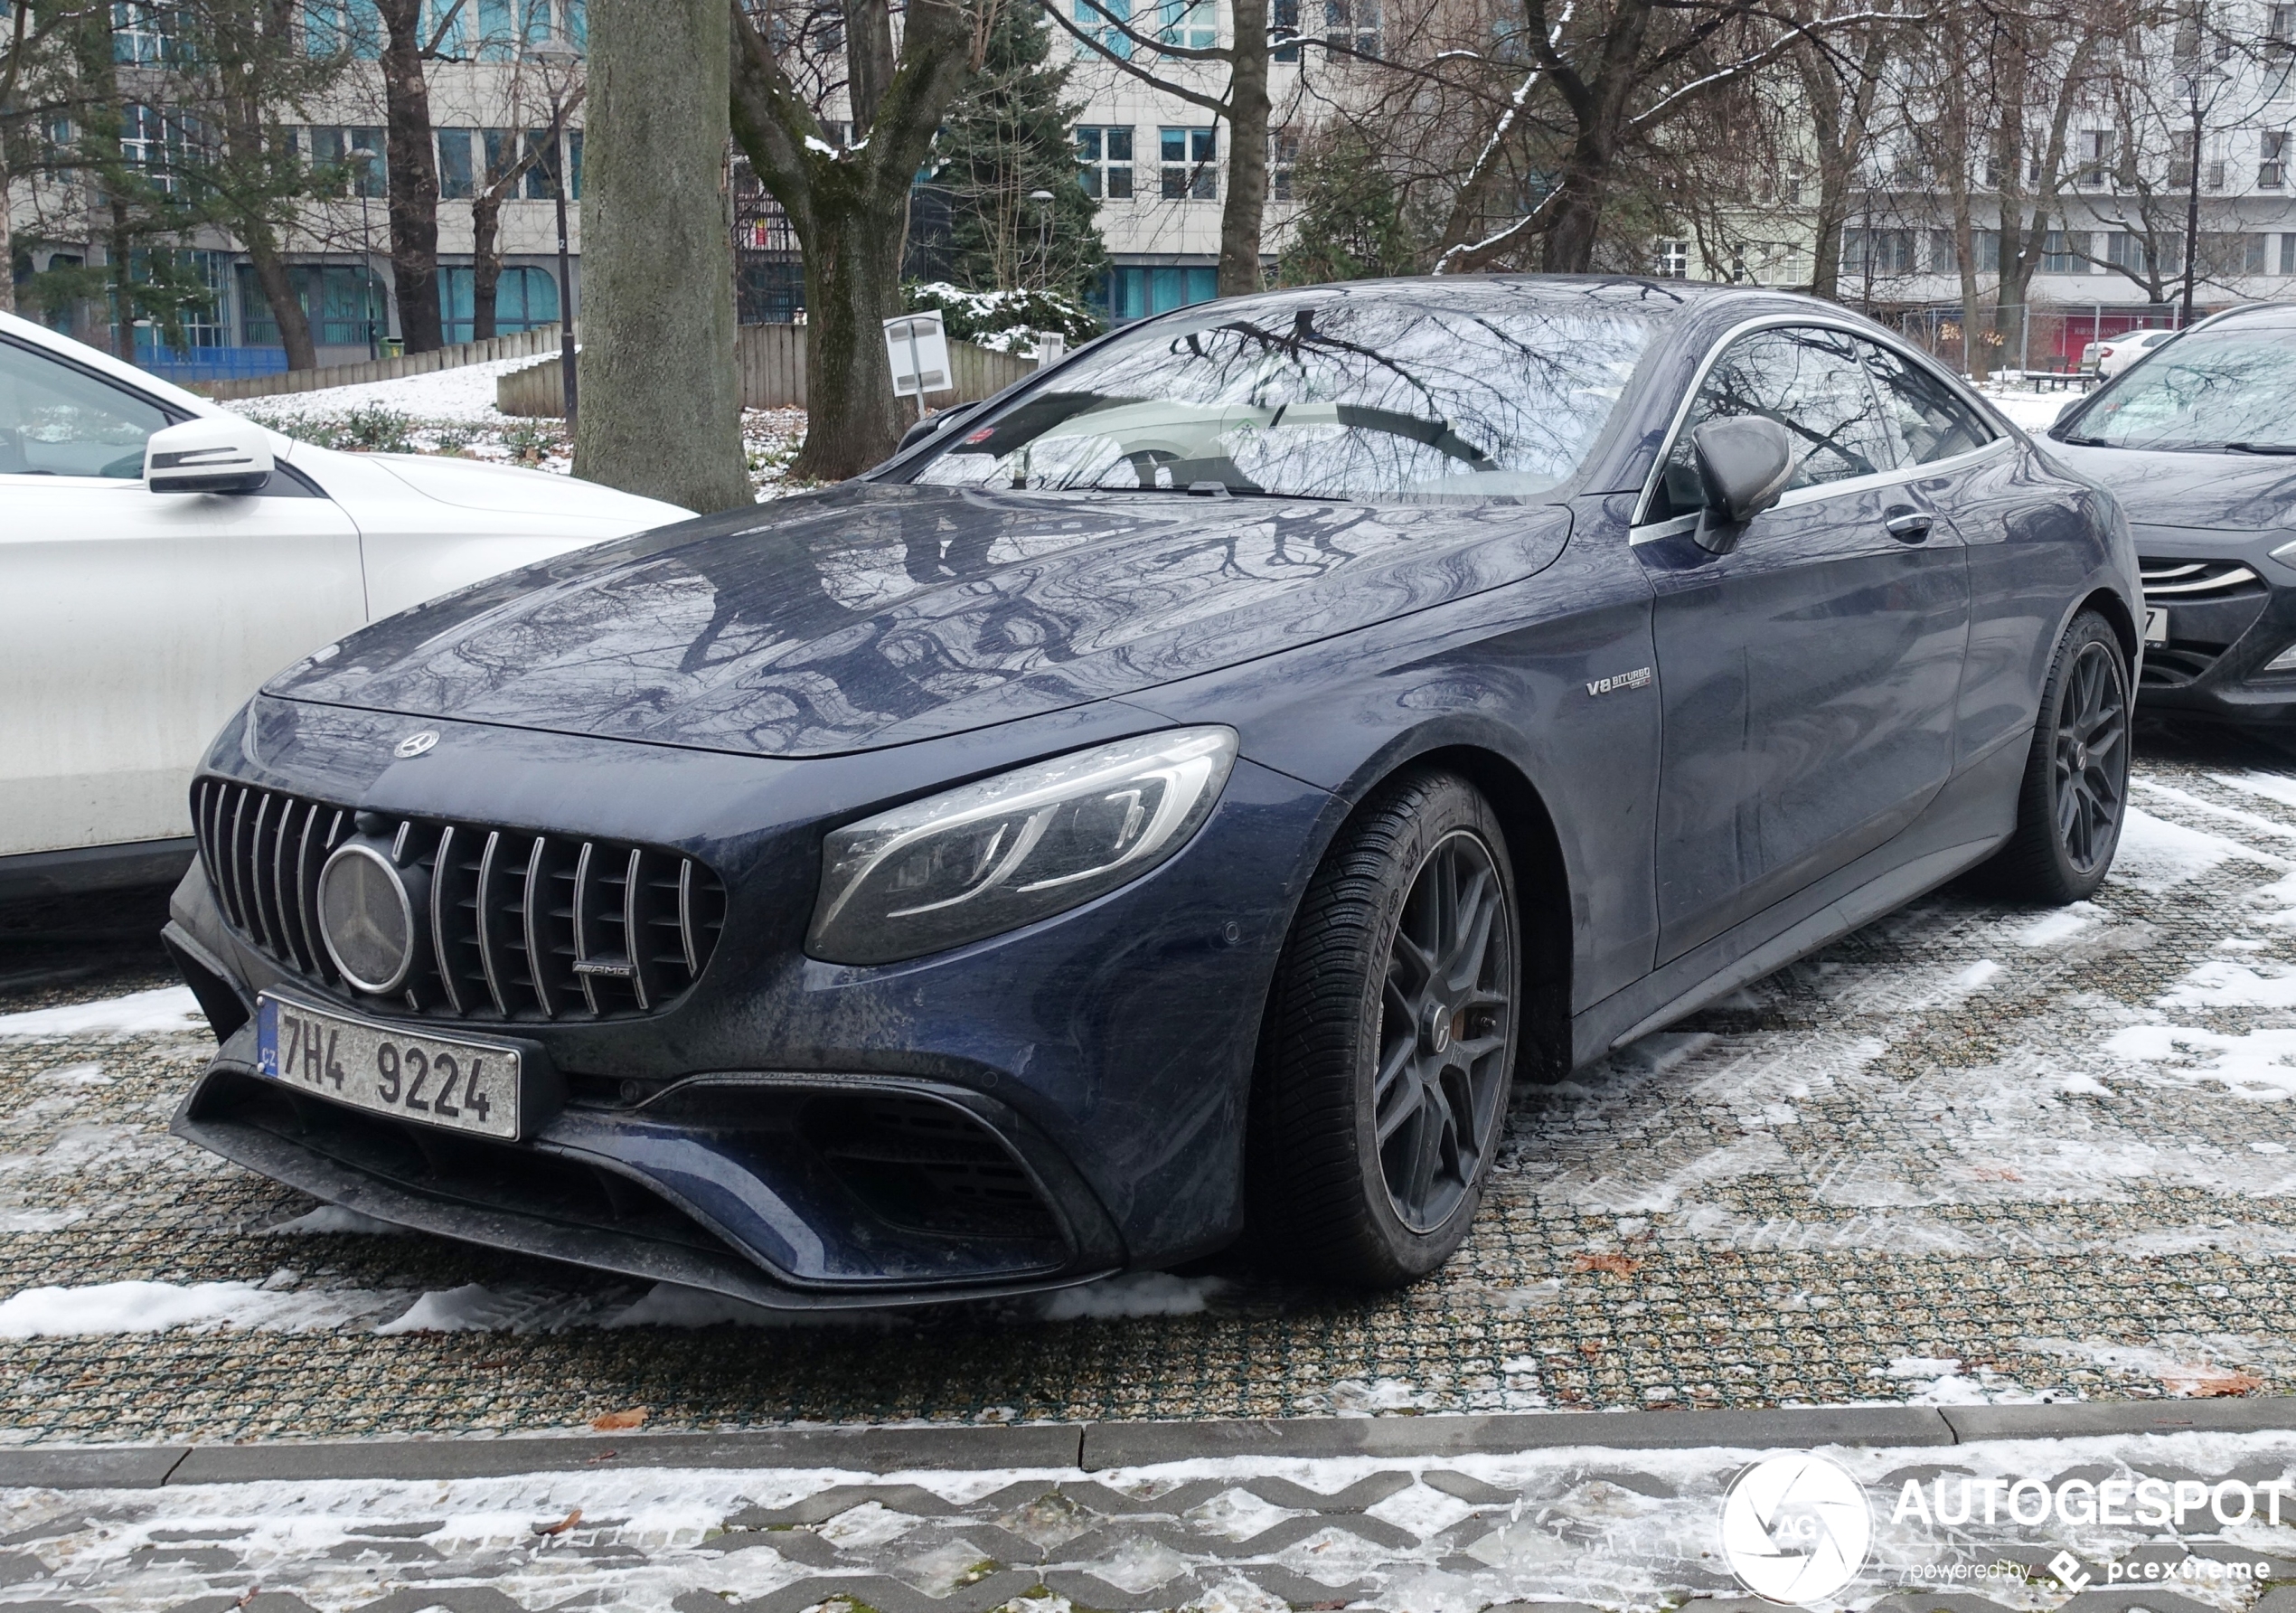
M1580 469L1649 340L1632 312L1529 287L1210 303L1079 356L914 480L1522 499Z

